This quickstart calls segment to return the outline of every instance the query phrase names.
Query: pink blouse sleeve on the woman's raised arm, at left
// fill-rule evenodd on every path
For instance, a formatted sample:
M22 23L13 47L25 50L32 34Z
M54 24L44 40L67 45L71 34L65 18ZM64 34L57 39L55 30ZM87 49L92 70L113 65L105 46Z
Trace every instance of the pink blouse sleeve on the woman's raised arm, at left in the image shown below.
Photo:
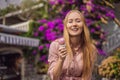
M49 56L48 56L48 63L49 63L49 68L48 68L48 75L51 78L51 80L53 80L53 69L54 66L58 60L58 47L59 44L56 41L53 41L50 44L50 48L49 48Z

